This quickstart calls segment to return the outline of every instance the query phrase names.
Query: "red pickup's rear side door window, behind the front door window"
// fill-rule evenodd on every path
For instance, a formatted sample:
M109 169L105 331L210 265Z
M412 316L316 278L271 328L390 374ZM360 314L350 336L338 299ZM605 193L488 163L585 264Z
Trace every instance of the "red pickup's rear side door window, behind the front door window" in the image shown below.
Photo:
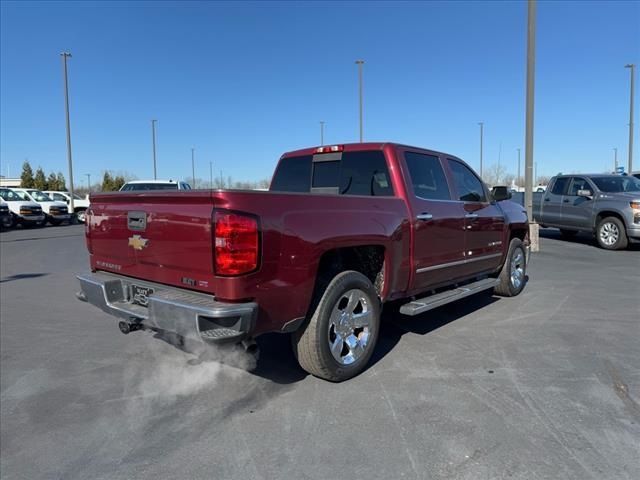
M451 200L447 177L442 169L440 159L434 155L406 152L413 193L426 200Z

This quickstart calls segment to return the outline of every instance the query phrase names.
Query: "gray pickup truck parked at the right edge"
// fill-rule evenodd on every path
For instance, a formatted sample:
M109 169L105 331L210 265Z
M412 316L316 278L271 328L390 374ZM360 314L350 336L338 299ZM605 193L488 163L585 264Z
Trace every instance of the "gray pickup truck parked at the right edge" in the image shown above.
M640 242L640 180L627 175L558 175L549 182L534 219L567 237L595 233L602 248Z

